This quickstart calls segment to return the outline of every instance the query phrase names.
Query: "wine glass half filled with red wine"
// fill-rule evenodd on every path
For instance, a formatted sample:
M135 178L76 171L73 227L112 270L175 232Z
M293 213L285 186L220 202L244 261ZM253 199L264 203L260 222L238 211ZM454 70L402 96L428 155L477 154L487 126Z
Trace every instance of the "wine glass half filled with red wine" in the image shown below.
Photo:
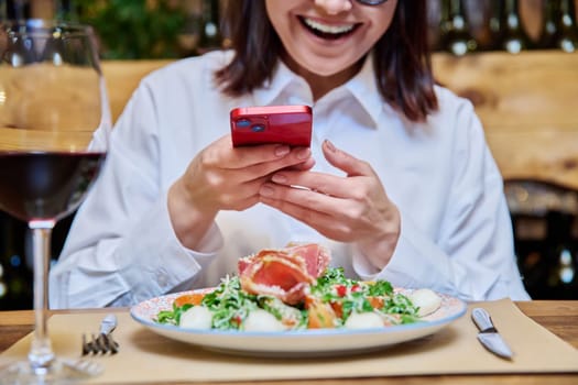
M2 381L61 383L98 372L52 350L47 272L52 229L99 174L110 122L90 26L0 22L0 210L32 232L35 321L28 361L3 369Z

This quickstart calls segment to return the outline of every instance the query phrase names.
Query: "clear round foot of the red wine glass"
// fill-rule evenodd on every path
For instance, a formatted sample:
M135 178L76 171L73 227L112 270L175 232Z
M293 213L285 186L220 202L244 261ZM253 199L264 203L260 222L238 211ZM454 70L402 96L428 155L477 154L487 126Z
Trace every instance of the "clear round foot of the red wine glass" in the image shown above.
M101 373L102 365L89 360L55 359L43 367L22 361L0 369L0 385L70 384Z

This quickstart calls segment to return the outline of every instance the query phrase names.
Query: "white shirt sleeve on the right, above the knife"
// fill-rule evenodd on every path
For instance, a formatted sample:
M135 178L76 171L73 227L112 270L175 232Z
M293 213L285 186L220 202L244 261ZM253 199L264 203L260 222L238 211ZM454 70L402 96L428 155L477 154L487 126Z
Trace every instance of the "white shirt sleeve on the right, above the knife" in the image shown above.
M429 287L466 300L511 297L526 300L513 249L503 180L469 102L458 109L451 188L432 201L447 207L437 238L426 237L415 218L401 212L401 234L381 271L363 255L353 266L363 279L388 279L400 287Z

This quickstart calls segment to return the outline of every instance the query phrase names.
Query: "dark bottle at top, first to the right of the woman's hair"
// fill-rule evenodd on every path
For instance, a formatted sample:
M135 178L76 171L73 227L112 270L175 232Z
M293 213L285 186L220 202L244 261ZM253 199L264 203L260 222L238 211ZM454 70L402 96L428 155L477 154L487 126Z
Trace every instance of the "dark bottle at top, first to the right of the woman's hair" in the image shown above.
M462 0L444 0L439 24L439 46L456 56L464 56L478 48L470 33Z

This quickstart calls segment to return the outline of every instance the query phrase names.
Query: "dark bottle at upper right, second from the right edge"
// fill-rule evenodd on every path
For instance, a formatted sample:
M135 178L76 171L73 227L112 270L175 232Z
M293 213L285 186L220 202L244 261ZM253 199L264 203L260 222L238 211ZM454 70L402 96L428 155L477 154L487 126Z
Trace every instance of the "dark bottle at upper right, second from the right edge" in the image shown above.
M511 54L532 48L532 41L524 29L517 0L502 2L499 36L500 48Z

